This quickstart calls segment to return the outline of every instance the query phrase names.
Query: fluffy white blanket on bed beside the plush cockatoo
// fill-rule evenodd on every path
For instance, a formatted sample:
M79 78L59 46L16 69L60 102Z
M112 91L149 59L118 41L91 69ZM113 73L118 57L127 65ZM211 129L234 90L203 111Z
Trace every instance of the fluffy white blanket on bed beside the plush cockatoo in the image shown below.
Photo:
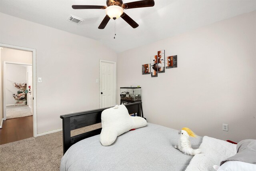
M201 153L195 155L185 171L215 171L213 165L220 165L220 162L236 154L236 145L215 139L203 137L199 149Z

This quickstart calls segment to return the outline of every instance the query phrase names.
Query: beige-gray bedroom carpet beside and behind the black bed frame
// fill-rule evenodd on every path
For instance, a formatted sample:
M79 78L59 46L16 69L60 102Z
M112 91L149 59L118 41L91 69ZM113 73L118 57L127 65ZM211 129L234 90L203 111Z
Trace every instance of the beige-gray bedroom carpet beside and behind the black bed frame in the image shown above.
M101 123L71 131L98 129ZM62 131L0 145L0 171L58 171L63 156Z

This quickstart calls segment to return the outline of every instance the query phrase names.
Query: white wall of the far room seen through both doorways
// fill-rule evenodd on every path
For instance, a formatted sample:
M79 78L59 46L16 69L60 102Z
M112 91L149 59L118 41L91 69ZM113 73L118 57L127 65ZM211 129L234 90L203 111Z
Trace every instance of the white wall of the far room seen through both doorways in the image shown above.
M15 99L12 94L17 94L20 89L14 87L13 83L27 82L27 67L17 64L6 64L5 73L5 103L14 105Z

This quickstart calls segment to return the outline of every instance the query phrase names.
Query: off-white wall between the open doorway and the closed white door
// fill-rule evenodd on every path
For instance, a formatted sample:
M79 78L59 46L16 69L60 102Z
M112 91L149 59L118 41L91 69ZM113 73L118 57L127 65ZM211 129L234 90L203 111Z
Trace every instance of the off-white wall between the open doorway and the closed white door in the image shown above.
M86 30L85 30L86 32ZM0 42L36 49L37 130L62 128L60 115L100 107L99 60L116 53L96 40L0 13Z

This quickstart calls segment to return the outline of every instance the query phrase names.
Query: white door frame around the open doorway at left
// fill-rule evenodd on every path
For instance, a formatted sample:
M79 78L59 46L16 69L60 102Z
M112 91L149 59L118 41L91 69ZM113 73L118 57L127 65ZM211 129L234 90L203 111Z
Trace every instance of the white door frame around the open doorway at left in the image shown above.
M33 136L37 137L36 113L36 49L0 43L0 47L32 52L32 86L33 86ZM4 100L5 101L5 100ZM2 104L1 104L2 105ZM4 107L5 108L5 107ZM6 120L6 118L4 119Z

